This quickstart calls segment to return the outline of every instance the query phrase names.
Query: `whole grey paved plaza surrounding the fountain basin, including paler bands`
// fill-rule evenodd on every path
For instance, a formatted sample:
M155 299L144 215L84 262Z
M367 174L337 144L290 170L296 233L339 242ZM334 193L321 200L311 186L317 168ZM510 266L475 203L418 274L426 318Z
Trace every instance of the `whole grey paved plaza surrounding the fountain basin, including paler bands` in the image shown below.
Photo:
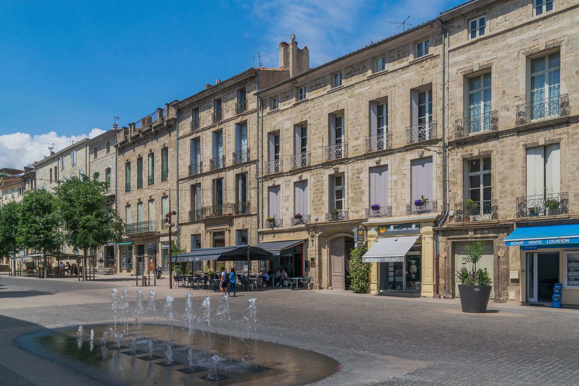
M110 320L111 288L136 288L130 278L102 277L93 282L8 277L0 282L0 329L3 339L34 326ZM175 297L175 319L183 319L184 288L169 291L167 280L150 289L159 307L167 293ZM139 287L141 288L141 287ZM193 289L195 304L219 293ZM487 314L465 314L456 301L400 299L332 291L274 289L238 293L229 299L232 318L241 318L247 299L258 304L258 333L265 339L306 341L312 347L357 350L411 361L420 369L373 385L577 385L579 384L579 311L490 304ZM133 305L134 303L131 303ZM269 337L269 338L268 338ZM0 385L42 386L23 373L20 348L0 353ZM28 354L30 355L30 354ZM347 366L347 363L345 363ZM28 368L34 368L28 363ZM371 370L368 370L371 371Z

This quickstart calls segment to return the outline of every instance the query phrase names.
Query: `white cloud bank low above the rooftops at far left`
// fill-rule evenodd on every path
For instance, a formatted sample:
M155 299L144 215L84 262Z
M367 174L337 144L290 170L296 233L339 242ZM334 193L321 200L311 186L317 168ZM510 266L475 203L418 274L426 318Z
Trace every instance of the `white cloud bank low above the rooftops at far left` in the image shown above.
M72 145L72 141L94 138L104 132L105 130L95 127L89 134L71 135L71 137L58 135L54 131L34 136L27 133L0 135L0 167L22 169L49 155L48 147L52 144L54 144L54 151L58 152Z

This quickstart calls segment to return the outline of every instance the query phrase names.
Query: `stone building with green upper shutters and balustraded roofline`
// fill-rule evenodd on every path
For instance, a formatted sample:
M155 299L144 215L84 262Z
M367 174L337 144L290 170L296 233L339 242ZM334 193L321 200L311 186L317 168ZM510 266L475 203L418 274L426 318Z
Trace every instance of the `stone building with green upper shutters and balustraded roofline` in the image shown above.
M176 102L176 101L174 101ZM176 111L171 102L117 132L116 202L126 223L117 251L120 273L164 267L168 227L164 216L177 208Z

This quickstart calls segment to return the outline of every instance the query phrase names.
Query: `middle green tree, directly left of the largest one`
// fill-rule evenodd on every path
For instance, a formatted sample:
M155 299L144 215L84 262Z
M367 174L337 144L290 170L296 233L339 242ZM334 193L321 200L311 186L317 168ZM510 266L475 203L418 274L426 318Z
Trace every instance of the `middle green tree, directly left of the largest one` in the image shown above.
M47 277L47 253L58 251L62 235L54 213L54 194L46 189L34 189L20 202L20 220L16 242L21 248L31 248L44 255L44 276Z

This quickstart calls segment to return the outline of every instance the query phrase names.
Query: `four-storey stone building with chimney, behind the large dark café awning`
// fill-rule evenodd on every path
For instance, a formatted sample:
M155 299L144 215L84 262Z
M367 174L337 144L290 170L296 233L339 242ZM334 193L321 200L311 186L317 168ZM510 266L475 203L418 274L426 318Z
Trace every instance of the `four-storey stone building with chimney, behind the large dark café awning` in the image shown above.
M182 249L255 245L259 112L255 93L309 69L307 47L280 43L280 68L249 68L174 105ZM247 269L247 262L226 262ZM200 269L200 267L193 267ZM217 269L215 261L211 269Z

